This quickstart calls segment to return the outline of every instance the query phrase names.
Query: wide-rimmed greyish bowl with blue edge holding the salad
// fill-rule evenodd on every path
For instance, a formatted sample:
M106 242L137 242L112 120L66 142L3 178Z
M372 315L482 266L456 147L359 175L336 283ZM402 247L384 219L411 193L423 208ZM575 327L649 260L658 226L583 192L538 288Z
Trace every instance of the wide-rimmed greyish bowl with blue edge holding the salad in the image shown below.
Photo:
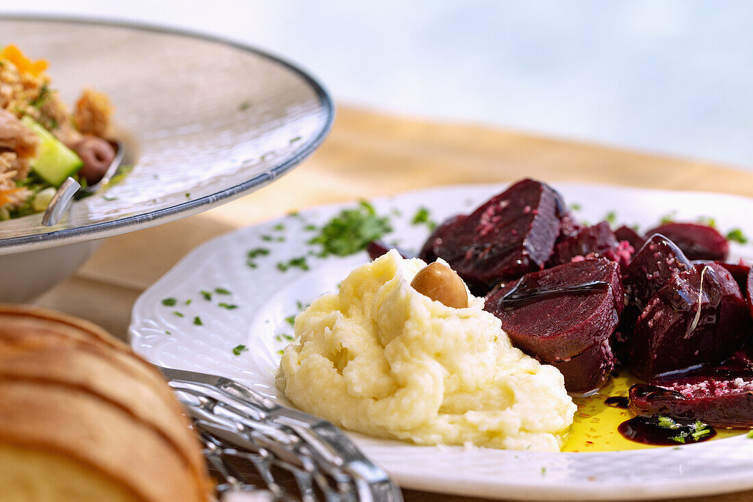
M285 60L175 29L44 17L0 17L2 42L50 62L72 103L84 87L110 96L133 170L72 204L0 222L0 302L25 302L69 277L96 240L191 216L273 182L322 143L327 91ZM10 279L10 280L8 280Z

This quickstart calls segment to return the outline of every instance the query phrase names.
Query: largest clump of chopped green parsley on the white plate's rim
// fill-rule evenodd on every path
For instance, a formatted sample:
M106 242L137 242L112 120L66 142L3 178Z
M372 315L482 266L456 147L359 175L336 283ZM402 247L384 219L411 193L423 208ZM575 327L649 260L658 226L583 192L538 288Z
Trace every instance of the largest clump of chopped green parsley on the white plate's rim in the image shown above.
M373 206L361 200L355 209L342 210L319 230L309 244L321 244L319 256L349 256L358 253L372 240L392 231L388 216L378 216Z

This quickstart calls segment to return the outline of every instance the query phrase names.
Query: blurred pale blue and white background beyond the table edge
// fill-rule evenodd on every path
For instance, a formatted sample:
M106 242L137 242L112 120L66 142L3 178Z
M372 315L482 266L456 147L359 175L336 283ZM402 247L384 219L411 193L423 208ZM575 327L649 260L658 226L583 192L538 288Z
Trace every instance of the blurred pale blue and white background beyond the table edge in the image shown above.
M339 103L753 170L753 2L16 2L254 44Z

